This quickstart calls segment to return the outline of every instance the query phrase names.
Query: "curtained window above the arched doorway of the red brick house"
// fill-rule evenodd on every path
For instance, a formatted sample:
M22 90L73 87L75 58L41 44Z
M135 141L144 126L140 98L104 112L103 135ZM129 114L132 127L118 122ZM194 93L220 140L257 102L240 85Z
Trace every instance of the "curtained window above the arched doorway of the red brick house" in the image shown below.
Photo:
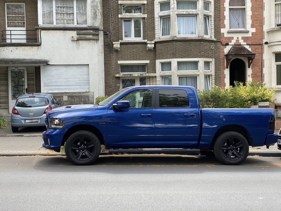
M229 1L229 28L245 28L245 0Z

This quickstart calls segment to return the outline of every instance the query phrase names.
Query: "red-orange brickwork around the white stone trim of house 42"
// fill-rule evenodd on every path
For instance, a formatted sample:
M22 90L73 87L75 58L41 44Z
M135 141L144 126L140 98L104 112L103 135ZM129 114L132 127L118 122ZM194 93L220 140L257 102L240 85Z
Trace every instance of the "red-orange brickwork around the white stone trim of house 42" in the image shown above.
M221 10L221 27L225 28L225 0L221 1L222 10ZM252 15L251 15L251 28L256 28L256 32L252 33L251 37L243 37L243 42L246 42L247 45L250 44L251 51L256 53L256 58L253 60L251 65L252 69L252 81L261 81L262 80L262 45L251 45L251 44L262 44L263 43L263 1L261 0L252 0ZM231 40L236 39L237 37L225 37L224 33L221 33L222 43L231 42ZM237 40L236 44L240 44ZM221 75L222 75L222 87L225 87L225 46L222 46L221 50ZM248 65L248 64L246 64ZM246 66L247 67L247 66Z

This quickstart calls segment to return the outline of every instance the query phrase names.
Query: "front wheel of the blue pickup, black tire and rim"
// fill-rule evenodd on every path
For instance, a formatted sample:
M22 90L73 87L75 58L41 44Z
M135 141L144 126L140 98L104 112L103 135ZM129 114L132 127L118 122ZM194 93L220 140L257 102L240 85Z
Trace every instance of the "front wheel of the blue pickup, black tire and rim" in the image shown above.
M65 154L76 165L90 165L100 155L100 140L92 132L77 131L66 140Z

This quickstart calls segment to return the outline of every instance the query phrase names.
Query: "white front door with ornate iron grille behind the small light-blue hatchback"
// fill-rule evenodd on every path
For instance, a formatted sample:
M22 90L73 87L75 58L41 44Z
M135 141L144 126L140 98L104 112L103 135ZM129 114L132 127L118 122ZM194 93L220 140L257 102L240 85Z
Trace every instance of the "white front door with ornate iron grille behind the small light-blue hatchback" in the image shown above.
M9 112L12 111L16 99L23 94L27 94L27 73L25 67L9 67Z

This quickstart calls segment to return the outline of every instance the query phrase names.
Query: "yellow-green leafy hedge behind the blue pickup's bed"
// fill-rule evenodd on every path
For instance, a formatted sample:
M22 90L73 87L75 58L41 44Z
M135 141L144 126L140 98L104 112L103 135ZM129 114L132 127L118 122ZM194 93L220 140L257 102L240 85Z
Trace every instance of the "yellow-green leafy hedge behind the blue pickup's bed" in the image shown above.
M249 108L258 102L274 102L274 93L260 82L247 81L243 86L236 81L227 89L215 86L210 91L198 90L198 97L202 108Z

